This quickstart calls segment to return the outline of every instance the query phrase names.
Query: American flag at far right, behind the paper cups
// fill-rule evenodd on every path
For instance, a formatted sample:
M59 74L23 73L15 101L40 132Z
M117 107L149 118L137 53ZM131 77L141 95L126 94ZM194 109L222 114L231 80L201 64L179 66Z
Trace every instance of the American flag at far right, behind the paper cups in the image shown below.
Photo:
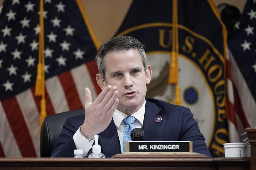
M256 127L256 0L248 0L228 39L227 89L230 142Z

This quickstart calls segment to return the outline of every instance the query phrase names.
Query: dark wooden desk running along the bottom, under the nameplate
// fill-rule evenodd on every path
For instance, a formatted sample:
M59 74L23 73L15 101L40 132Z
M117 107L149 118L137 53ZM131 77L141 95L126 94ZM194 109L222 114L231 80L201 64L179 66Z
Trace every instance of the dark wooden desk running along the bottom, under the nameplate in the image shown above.
M0 158L1 170L52 169L246 170L250 158Z

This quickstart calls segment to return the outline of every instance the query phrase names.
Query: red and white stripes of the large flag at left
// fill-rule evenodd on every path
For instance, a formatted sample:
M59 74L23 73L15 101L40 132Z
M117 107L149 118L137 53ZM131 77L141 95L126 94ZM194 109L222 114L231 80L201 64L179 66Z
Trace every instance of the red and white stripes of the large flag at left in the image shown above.
M84 88L95 99L101 89L95 80L95 61L45 81L47 115L84 108ZM0 103L0 157L40 156L40 97L35 87Z

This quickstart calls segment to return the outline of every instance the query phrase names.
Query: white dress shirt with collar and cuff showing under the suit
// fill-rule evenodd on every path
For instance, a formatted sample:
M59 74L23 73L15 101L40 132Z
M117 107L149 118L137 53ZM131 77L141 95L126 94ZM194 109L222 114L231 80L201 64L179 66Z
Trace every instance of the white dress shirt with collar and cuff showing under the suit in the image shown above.
M144 115L145 115L145 106L146 106L146 100L144 99L144 103L140 107L140 109L137 112L135 112L134 114L132 114L132 116L136 118L136 121L134 122L134 125L136 126L136 128L142 128ZM127 116L129 116L129 115L126 115L125 113L123 113L117 109L115 110L115 112L113 114L113 120L116 125L116 130L117 130L117 134L118 134L119 141L120 141L121 153L123 153L123 147L124 147L123 146L123 131L124 131L125 124L124 124L123 120ZM75 142L76 149L82 149L83 156L86 156L87 153L92 148L94 139L89 141L86 137L84 137L80 133L80 128L81 128L81 126L77 129L76 133L74 134L73 140Z

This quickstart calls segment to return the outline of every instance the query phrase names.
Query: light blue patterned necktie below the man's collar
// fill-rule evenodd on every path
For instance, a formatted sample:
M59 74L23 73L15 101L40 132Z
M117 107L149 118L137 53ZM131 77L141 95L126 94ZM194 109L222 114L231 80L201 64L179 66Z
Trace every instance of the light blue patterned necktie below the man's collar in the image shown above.
M124 152L126 152L126 145L125 142L126 141L131 141L131 132L133 129L135 129L135 125L133 124L136 121L135 117L132 116L127 116L126 118L124 118L123 122L124 124L126 124L126 126L124 127L124 131L123 131L123 146L124 146Z

